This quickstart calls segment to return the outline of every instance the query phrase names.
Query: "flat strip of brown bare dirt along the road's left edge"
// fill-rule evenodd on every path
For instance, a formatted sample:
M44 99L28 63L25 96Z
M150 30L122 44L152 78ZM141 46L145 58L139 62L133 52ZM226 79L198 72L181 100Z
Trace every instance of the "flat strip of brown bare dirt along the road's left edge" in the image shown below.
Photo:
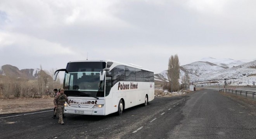
M54 108L53 100L54 98L1 99L0 114L33 112Z

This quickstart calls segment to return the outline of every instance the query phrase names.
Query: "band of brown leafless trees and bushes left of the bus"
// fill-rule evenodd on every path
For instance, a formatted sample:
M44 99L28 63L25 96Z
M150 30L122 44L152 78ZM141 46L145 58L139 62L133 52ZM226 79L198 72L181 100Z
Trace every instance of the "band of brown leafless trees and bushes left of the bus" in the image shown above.
M43 95L53 96L54 88L61 88L60 78L52 80L55 70L43 71L40 65L37 80L17 78L12 76L2 76L0 83L0 97L43 97Z

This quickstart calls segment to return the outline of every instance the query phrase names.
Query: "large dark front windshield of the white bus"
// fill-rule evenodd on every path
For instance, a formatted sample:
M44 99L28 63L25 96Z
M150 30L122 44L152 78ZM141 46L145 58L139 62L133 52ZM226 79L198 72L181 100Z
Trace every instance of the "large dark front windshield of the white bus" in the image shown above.
M76 62L67 65L64 89L67 96L104 97L104 81L100 81L102 62Z

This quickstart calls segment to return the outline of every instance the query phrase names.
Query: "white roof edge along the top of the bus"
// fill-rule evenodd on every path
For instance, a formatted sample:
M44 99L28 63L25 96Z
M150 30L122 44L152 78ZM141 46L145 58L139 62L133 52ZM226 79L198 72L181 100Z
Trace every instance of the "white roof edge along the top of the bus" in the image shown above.
M103 60L78 60L78 61L69 61L68 63L71 63L71 62L112 62L112 63L116 63L116 64L120 64L120 65L125 65L125 66L130 66L130 67L133 67L133 68L138 68L138 69L141 69L141 70L146 70L146 71L151 71L151 70L147 70L147 69L144 69L142 68L142 66L138 66L136 64L132 64L132 63L121 63L121 62L117 62L117 61L113 61L113 60L110 60L110 59L103 59ZM153 71L151 71L153 72Z

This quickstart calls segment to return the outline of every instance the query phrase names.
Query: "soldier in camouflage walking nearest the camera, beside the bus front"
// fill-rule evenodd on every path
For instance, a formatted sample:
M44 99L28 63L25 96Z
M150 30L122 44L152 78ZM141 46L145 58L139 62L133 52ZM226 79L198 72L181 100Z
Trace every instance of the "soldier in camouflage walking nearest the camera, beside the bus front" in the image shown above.
M57 94L54 98L54 106L57 109L57 112L59 114L59 124L64 125L63 119L62 119L62 111L64 111L64 104L67 102L67 104L70 106L70 103L67 99L67 96L64 94L64 89L61 88L61 93Z

